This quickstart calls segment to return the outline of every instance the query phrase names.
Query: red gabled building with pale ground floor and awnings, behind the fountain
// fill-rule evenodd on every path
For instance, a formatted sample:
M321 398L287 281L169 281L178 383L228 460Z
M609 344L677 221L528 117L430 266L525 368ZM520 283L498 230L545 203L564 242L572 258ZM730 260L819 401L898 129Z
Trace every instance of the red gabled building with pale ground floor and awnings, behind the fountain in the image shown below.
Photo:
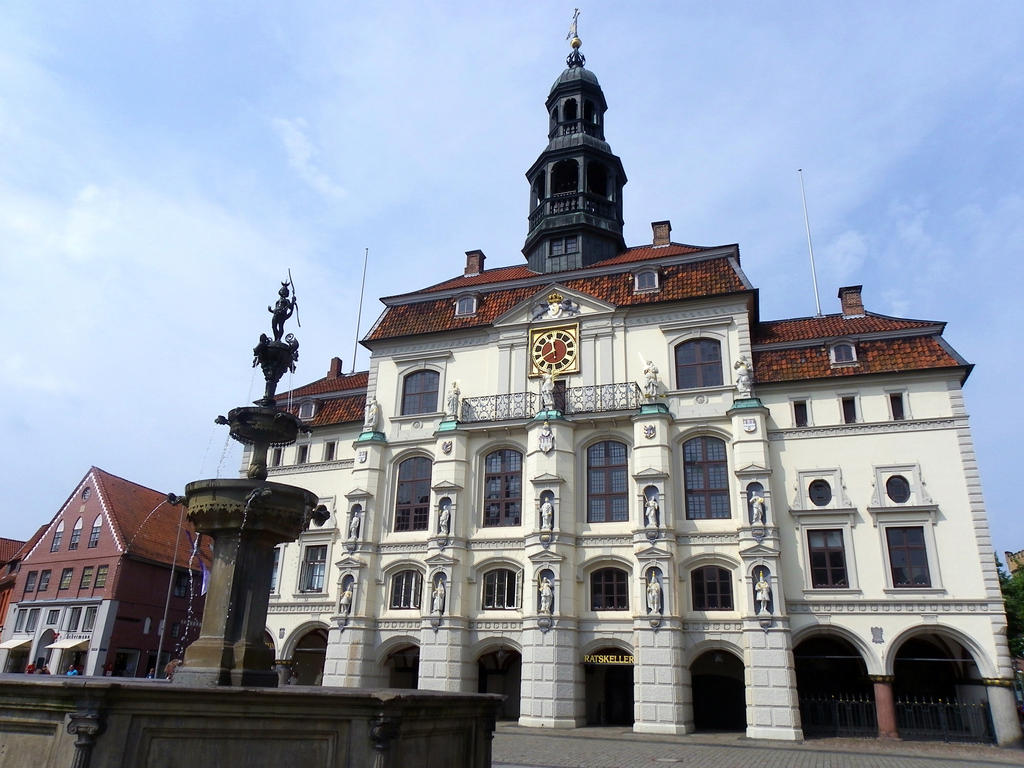
M92 467L19 556L5 672L143 677L195 639L211 553L166 494Z

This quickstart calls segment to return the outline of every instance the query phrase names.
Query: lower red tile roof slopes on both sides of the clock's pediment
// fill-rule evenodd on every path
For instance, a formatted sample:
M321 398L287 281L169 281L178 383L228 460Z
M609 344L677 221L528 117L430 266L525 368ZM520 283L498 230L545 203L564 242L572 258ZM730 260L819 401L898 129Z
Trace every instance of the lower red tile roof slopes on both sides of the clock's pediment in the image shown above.
M671 247L667 246L666 249L668 248ZM678 248L688 248L688 246L679 246ZM643 252L664 249L633 250ZM680 251L680 253L685 253L685 251ZM660 255L672 254L662 253ZM488 273L483 272L483 274ZM665 266L662 268L660 290L645 293L634 291L633 274L628 271L615 274L566 278L561 281L558 280L557 273L548 276L551 278L552 282L558 282L569 290L594 296L616 306L654 304L663 301L718 296L748 290L739 272L733 267L729 258L724 256ZM455 316L455 307L450 299L428 299L412 304L389 306L367 336L367 340L375 341L399 336L487 326L512 307L536 295L538 290L539 286L535 285L509 289L499 288L483 293L478 302L476 314L466 317Z

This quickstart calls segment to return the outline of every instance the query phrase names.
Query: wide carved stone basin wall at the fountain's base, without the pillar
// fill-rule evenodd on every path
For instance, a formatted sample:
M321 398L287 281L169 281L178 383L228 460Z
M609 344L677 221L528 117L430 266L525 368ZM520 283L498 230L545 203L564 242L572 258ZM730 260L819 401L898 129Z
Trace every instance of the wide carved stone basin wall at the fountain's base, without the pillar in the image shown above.
M501 696L0 676L5 768L490 765Z

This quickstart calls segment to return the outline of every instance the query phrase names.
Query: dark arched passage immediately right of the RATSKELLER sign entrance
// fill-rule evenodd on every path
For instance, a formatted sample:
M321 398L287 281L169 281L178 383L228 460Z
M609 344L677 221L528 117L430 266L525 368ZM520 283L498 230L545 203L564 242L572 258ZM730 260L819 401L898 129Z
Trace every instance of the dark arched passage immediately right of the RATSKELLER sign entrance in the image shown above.
M727 650L709 650L693 659L690 680L696 730L746 729L742 662Z

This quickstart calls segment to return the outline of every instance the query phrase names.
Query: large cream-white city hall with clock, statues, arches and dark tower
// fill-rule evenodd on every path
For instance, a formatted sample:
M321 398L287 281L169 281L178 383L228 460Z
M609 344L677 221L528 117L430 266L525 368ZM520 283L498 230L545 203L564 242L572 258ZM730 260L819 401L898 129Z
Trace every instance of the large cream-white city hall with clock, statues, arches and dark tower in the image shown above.
M279 657L528 726L1019 738L943 324L762 319L737 246L627 247L575 49L547 111L525 263L383 299L369 372L290 393L271 475L334 514L281 550Z

